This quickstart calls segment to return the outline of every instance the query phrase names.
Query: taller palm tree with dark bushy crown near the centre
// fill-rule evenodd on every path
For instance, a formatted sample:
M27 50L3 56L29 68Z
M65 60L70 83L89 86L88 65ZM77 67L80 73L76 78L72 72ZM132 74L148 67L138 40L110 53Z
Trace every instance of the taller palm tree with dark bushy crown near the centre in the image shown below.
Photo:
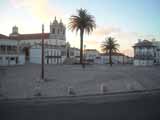
M90 15L86 9L78 9L77 15L69 18L69 29L80 31L80 64L83 63L83 36L84 32L90 34L96 27L94 16Z

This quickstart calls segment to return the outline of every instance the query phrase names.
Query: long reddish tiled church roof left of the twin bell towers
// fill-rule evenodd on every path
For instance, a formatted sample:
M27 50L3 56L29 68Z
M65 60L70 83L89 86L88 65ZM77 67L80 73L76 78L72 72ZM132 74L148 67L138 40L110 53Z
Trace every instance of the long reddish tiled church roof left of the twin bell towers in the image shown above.
M9 36L9 39L15 40L34 40L34 39L41 39L42 33L35 33L35 34L19 34L17 36ZM44 38L49 38L49 33L44 33Z

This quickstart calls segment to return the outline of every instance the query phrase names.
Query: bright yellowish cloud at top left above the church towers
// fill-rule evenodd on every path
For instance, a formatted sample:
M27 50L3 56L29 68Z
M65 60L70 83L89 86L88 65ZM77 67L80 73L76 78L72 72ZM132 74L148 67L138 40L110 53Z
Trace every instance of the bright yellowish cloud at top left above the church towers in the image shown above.
M10 0L10 3L14 8L24 9L42 21L63 15L62 10L56 5L51 7L48 0Z

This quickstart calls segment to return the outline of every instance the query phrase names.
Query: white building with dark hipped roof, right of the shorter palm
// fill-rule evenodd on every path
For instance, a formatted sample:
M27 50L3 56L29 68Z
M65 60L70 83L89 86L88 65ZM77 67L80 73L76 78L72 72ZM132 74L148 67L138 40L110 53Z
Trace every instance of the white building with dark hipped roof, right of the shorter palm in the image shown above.
M148 40L139 40L134 46L134 65L153 65L155 62L155 46Z

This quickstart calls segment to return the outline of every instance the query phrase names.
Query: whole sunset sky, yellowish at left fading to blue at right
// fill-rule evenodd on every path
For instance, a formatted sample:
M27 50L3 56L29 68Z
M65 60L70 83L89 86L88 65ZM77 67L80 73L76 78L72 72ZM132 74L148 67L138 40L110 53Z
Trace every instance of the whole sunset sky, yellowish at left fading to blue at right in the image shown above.
M0 0L0 34L9 35L12 26L19 33L40 33L45 24L62 19L66 27L69 17L84 8L96 20L96 29L84 36L87 49L101 51L106 37L114 37L120 52L133 56L137 39L160 40L160 0ZM67 41L79 48L79 35L67 28Z

